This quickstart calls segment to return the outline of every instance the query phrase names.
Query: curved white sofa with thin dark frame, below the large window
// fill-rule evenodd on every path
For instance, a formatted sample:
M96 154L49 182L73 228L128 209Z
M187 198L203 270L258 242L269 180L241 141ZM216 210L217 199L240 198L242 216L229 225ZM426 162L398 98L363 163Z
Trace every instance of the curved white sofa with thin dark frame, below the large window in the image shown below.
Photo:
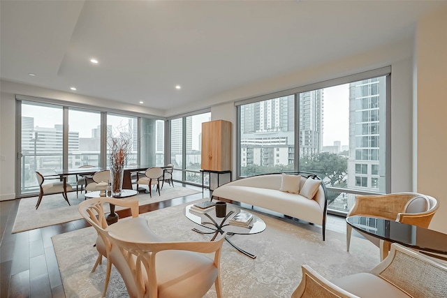
M301 176L300 189L303 189L306 179L318 179L315 174L305 172L294 174ZM263 174L230 181L214 189L211 200L225 198L244 202L321 225L324 241L327 209L324 184L320 183L313 198L309 199L299 193L280 191L284 185L283 176L283 174Z

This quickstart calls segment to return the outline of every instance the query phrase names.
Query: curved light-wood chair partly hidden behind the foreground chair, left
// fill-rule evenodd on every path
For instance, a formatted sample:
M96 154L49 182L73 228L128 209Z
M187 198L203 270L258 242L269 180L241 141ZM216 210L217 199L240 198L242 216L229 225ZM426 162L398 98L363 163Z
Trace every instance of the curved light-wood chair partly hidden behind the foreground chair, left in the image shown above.
M122 218L119 219L117 223L113 225L108 225L105 214L104 214L104 204L115 204L115 206L128 207L131 209L132 218ZM103 290L103 297L107 292L108 282L110 279L110 270L112 269L112 262L110 261L110 250L112 244L108 236L108 230L117 229L118 232L124 230L131 234L135 239L157 239L154 234L150 234L150 230L147 229L147 221L145 218L138 217L138 200L135 199L115 199L115 198L93 198L85 200L78 205L78 211L85 218L85 220L95 228L98 232L98 237L96 238L96 249L98 250L98 258L96 263L91 269L94 272L99 264L102 264L103 257L108 259L107 271L105 275L105 284Z

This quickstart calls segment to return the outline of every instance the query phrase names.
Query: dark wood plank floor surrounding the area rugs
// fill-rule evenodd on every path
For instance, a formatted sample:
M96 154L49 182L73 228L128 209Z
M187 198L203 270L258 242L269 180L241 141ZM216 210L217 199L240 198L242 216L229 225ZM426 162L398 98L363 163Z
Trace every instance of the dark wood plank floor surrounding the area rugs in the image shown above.
M201 191L196 186L184 186ZM140 207L140 213L208 197L210 193L205 190L203 195L188 195ZM11 234L19 202L18 199L0 202L0 297L65 297L51 237L88 225L82 219ZM346 222L342 217L328 215L326 228L345 233Z

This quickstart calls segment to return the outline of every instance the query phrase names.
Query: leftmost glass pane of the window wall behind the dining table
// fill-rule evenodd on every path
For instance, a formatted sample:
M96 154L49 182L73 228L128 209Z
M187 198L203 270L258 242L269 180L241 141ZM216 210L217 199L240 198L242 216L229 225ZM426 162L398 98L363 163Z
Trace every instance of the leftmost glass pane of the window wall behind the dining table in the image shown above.
M63 109L22 101L22 139L20 160L20 193L36 193L36 171L55 174L62 167L63 156Z

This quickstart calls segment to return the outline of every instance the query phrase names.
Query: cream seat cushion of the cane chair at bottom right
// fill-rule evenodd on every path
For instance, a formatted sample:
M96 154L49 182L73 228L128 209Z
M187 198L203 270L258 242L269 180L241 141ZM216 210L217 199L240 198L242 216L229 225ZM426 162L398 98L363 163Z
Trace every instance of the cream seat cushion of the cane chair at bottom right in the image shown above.
M388 283L379 276L370 273L351 274L349 276L337 278L335 281L331 282L343 290L362 298L410 297L391 283Z

